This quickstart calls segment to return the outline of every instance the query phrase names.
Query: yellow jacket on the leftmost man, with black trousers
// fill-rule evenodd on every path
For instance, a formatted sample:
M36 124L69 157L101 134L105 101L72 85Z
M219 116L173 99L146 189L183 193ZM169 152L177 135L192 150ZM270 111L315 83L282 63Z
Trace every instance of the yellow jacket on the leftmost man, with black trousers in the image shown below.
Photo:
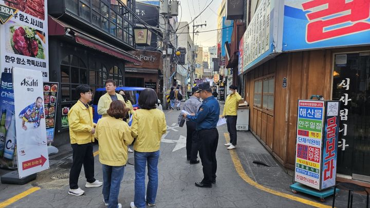
M69 138L71 144L87 144L94 142L91 129L96 125L93 122L93 108L87 108L80 100L68 112Z

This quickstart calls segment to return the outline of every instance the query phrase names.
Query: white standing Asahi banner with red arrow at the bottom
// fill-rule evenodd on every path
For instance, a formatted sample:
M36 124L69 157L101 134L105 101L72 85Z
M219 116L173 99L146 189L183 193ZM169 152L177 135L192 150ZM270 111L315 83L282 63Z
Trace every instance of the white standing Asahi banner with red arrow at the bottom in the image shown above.
M14 68L14 107L20 178L49 168L43 73Z

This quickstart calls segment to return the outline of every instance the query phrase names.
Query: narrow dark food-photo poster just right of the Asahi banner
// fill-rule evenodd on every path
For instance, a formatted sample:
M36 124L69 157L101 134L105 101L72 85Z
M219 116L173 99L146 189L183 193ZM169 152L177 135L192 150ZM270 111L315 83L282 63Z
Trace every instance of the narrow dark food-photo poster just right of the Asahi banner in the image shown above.
M57 112L58 82L44 82L44 103L46 140L51 143L54 140L55 115Z

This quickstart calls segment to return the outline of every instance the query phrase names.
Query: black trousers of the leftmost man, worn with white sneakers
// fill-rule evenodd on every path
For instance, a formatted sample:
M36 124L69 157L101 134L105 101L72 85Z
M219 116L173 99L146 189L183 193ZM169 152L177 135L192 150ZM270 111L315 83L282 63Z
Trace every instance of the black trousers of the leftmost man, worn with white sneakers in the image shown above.
M93 143L71 144L72 146L72 167L69 172L69 188L78 188L78 178L80 177L82 165L84 166L86 181L93 183L94 178L94 155Z

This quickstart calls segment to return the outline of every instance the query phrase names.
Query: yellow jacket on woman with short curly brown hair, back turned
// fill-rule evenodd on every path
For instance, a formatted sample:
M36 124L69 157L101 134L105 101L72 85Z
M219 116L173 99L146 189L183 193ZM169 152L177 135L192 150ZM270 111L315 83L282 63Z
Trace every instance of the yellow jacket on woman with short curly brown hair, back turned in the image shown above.
M134 138L122 119L104 117L98 121L95 138L99 140L99 161L104 165L122 166L127 162L127 146Z

